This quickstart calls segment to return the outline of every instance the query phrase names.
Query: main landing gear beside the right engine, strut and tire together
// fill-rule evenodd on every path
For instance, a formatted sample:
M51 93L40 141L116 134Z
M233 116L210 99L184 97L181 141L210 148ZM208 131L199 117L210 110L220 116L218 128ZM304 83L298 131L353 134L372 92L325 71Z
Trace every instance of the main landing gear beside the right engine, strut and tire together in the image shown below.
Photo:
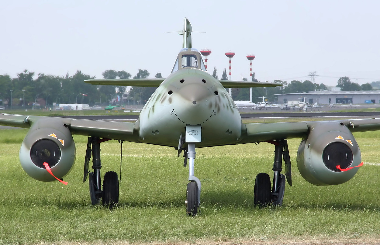
M259 173L255 180L254 204L255 206L265 207L268 205L282 206L282 200L285 192L285 176L288 184L291 186L291 164L288 151L287 140L267 141L274 144L274 163L272 170L273 185L267 173ZM285 176L281 174L282 159L285 163Z

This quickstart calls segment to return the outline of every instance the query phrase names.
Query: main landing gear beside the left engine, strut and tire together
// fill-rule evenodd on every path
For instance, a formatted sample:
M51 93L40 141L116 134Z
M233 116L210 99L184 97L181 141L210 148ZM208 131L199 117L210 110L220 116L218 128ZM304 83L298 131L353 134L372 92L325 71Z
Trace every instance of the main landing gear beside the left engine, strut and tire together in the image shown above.
M119 203L119 179L117 173L109 171L104 175L103 190L100 179L100 143L108 139L101 139L97 137L89 137L87 141L86 157L84 160L84 176L83 182L86 182L87 175L89 175L90 197L92 205L100 203L102 200L103 206L112 209ZM93 172L89 172L89 162L92 155L92 168Z

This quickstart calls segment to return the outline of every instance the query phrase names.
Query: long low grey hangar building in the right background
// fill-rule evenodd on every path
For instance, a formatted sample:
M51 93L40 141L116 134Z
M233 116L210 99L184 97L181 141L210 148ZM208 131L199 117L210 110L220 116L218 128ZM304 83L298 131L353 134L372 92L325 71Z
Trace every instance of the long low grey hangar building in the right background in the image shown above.
M380 90L370 91L310 91L309 93L275 94L279 103L294 101L318 104L368 104L380 103Z

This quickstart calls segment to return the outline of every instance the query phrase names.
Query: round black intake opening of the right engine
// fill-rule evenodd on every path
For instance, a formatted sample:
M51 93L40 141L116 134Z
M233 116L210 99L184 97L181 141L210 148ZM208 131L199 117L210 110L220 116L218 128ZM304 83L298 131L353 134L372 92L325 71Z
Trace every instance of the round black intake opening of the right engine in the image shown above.
M342 142L333 142L326 146L322 153L323 163L332 171L340 172L336 168L340 165L340 168L348 168L353 160L353 154L351 149Z

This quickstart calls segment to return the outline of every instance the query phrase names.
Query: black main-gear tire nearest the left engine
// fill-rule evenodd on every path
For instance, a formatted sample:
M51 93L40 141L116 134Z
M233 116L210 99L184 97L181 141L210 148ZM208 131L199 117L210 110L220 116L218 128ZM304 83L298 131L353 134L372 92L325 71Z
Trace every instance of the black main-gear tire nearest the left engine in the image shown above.
M119 179L117 173L109 171L104 175L103 180L103 206L112 209L119 203Z

